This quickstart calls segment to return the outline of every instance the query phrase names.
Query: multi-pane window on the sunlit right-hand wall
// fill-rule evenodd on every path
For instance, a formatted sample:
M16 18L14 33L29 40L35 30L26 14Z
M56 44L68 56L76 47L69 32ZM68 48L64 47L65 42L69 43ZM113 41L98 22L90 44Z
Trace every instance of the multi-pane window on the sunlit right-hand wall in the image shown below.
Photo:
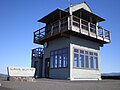
M98 53L74 49L74 68L98 69Z

